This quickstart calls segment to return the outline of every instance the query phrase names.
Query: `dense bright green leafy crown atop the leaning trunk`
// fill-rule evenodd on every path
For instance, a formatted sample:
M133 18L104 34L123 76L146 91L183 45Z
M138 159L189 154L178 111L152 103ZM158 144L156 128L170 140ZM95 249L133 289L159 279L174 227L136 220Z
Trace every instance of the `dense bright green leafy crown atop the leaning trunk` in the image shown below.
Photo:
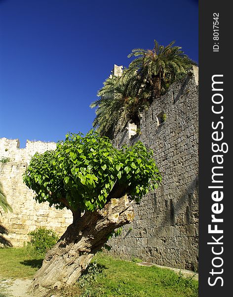
M36 153L24 174L37 201L73 214L101 209L124 194L138 202L160 181L153 152L142 143L118 150L95 131L67 134L55 150Z

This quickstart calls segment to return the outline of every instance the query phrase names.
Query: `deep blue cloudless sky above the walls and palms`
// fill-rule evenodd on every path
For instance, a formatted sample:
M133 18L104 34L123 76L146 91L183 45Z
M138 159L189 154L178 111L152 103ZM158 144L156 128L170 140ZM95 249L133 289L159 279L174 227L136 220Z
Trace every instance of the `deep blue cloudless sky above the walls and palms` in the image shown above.
M154 40L198 62L198 1L0 0L0 137L85 134L113 65Z

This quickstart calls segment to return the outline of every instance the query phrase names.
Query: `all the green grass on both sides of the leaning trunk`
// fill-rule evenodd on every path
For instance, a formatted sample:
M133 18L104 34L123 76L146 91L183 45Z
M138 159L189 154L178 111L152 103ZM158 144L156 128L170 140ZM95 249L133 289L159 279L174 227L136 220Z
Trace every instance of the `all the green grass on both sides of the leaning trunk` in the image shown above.
M0 278L32 278L42 259L26 248L0 249ZM169 269L145 267L97 253L79 282L64 297L197 297L198 282Z

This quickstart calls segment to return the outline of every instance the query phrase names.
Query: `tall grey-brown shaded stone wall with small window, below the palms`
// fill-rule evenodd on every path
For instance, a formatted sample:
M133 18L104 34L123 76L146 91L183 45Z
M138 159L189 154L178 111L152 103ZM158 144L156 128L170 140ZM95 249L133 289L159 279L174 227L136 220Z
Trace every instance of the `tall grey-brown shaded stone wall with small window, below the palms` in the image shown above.
M115 146L140 140L152 148L163 180L155 193L135 206L133 223L110 241L112 252L197 270L198 68L155 100L137 128L139 135L130 135L130 139L127 130L119 133Z

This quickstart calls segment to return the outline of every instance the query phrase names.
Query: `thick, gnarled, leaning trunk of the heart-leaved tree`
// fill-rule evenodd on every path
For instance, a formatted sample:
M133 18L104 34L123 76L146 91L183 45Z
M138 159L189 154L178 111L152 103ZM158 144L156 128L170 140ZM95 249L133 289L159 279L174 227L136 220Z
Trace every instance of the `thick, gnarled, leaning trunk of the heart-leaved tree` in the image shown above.
M45 255L30 287L34 296L43 296L43 292L49 289L74 284L94 254L107 242L108 235L133 220L132 203L127 196L114 198L103 209L87 211L74 220Z

